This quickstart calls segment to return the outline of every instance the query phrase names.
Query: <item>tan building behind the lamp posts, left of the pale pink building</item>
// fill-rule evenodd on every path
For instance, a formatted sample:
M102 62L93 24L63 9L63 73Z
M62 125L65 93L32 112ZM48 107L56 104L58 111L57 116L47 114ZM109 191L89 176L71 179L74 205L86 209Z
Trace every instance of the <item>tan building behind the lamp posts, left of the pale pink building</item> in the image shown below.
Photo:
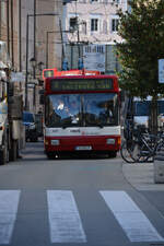
M21 4L22 69L25 74L26 70L28 70L26 78L28 81L27 107L30 110L37 113L40 109L40 86L37 81L42 79L42 71L39 70L38 63L43 63L43 69L47 68L47 65L49 68L61 68L61 45L57 47L54 39L57 39L57 35L59 35L62 1L22 0ZM28 38L26 31L28 32ZM55 31L57 33L51 33ZM35 70L30 62L32 58L36 60Z

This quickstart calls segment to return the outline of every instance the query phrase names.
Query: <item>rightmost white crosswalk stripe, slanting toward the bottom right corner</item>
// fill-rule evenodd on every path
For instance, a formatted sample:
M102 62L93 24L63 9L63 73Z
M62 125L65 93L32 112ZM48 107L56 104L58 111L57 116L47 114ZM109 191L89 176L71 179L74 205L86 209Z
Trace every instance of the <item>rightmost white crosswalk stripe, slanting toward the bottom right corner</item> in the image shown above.
M99 191L131 242L163 242L144 213L125 191Z

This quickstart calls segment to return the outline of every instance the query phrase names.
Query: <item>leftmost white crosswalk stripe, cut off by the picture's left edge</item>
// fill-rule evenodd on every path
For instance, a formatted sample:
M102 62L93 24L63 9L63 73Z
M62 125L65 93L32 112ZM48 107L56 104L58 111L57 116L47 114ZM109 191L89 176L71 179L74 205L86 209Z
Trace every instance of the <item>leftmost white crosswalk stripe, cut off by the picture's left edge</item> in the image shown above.
M0 244L10 244L20 192L20 190L0 190Z

